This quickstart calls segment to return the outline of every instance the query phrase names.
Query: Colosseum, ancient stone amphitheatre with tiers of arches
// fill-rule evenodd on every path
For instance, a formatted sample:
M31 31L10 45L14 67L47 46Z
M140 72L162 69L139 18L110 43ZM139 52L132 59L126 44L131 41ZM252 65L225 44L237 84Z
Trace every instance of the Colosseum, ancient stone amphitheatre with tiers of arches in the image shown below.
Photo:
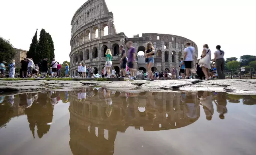
M172 66L178 67L178 60L184 56L184 44L191 42L196 48L194 63L198 58L198 49L193 41L172 34L144 33L133 38L128 38L123 32L116 33L113 13L107 8L105 0L88 0L74 14L71 25L71 52L70 52L70 75L75 76L78 72L78 64L85 62L92 66L94 74L101 74L105 65L105 52L111 49L112 67L116 72L120 70L119 60L121 53L119 45L126 42L134 42L136 54L145 51L147 42L152 42L155 47L155 64L152 71L167 69ZM141 52L140 52L141 53ZM145 58L138 56L136 61L137 69L146 71ZM111 68L112 69L112 68Z

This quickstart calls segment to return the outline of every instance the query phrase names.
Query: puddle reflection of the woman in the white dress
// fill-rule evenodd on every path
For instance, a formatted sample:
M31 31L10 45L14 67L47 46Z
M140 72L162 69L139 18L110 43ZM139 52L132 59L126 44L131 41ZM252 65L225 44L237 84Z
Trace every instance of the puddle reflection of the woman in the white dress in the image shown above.
M210 121L214 112L211 93L207 91L198 92L198 98L200 98L200 104L203 106L206 119Z

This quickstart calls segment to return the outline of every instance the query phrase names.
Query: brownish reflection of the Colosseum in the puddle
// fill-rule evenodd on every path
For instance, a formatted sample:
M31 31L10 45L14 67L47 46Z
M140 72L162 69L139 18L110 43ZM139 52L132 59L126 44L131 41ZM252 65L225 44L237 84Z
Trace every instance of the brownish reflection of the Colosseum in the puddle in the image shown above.
M181 93L153 93L152 96L141 93L130 94L126 101L126 93L113 95L111 91L109 110L102 91L95 89L94 96L86 100L78 100L78 92L71 92L70 148L74 155L113 154L117 132L124 133L128 127L144 131L170 130L190 125L200 117L196 95L186 95L184 99ZM190 112L186 103L194 103L194 112Z

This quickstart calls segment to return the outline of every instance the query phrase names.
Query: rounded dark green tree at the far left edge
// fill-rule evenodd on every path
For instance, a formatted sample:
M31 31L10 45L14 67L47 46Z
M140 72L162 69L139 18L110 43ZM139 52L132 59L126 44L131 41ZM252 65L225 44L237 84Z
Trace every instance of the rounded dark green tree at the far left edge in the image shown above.
M6 61L10 63L14 59L14 56L15 51L10 40L6 40L0 36L0 62Z

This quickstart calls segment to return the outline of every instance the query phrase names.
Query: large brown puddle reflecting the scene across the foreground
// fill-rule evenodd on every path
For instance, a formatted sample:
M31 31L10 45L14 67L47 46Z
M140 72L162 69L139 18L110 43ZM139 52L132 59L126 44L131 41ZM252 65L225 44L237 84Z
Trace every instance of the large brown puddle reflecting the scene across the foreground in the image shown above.
M256 96L101 87L0 95L1 155L255 155Z

